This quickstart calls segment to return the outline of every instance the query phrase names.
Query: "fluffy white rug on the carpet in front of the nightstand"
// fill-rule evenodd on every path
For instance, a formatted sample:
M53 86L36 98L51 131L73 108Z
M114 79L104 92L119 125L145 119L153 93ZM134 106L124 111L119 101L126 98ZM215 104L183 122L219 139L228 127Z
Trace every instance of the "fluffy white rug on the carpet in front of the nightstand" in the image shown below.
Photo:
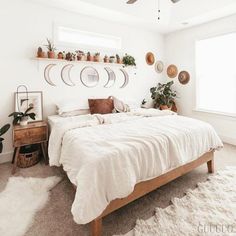
M23 236L31 226L37 211L42 209L49 190L60 177L11 177L0 193L0 235Z

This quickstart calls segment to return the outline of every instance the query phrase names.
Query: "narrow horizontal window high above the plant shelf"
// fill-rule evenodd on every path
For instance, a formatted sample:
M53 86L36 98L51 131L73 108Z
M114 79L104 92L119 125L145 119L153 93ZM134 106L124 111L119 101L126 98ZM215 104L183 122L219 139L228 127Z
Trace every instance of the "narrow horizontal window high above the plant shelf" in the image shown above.
M121 49L121 38L56 26L56 42L87 48Z

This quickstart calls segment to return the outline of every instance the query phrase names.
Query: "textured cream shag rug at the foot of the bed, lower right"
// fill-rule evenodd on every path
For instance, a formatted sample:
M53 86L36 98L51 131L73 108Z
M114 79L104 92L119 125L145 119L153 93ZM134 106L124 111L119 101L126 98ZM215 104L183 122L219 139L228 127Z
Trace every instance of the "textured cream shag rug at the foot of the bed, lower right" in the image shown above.
M150 219L137 220L126 236L236 235L236 167L212 175Z

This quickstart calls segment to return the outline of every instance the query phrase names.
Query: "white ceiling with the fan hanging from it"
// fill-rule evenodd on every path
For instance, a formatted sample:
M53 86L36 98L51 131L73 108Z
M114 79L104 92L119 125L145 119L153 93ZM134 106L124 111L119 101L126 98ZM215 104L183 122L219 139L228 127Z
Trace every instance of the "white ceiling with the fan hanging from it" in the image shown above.
M157 20L158 0L35 0L101 19L170 33L194 25L236 14L236 0L181 0L173 4L160 0L161 19Z

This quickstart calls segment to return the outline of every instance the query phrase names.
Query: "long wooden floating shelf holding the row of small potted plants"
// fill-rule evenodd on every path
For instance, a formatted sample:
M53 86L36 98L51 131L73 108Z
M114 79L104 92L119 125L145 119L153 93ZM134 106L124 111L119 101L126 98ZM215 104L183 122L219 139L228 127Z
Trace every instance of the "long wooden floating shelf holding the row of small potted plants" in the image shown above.
M65 59L51 59L51 58L39 58L34 57L32 60L35 61L42 61L42 62L61 62L61 63L71 63L71 64L86 64L86 65L104 65L104 66L118 66L118 67L134 67L134 66L125 66L124 64L118 64L118 63L105 63L105 62L96 62L96 61L67 61Z

